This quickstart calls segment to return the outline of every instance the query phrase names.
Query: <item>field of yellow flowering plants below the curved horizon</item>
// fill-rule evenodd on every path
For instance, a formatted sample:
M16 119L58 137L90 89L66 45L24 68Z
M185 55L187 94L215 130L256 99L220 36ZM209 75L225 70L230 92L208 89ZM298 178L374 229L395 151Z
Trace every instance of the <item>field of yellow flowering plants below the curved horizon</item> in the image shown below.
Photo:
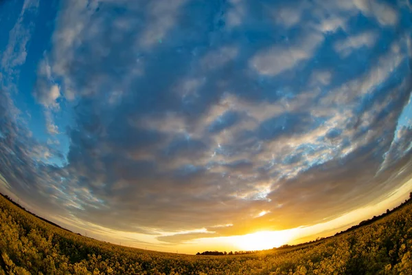
M0 196L0 274L412 274L412 203L328 239L234 256L150 252L46 223Z

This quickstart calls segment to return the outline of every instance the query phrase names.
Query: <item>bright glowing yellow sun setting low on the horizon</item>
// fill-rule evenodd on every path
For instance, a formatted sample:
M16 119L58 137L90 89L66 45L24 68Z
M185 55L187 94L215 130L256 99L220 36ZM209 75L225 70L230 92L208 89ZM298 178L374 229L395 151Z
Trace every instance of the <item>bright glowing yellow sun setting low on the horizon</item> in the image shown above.
M245 251L266 250L277 248L291 241L294 236L293 230L282 231L260 231L242 236L236 236L236 245Z

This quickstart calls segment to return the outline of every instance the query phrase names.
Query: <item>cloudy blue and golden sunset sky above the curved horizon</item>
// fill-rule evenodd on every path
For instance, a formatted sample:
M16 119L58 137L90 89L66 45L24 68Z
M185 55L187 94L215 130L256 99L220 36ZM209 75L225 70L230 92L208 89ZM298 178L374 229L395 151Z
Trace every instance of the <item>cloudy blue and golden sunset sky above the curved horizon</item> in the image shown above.
M334 234L412 184L409 0L0 1L0 191L185 253Z

